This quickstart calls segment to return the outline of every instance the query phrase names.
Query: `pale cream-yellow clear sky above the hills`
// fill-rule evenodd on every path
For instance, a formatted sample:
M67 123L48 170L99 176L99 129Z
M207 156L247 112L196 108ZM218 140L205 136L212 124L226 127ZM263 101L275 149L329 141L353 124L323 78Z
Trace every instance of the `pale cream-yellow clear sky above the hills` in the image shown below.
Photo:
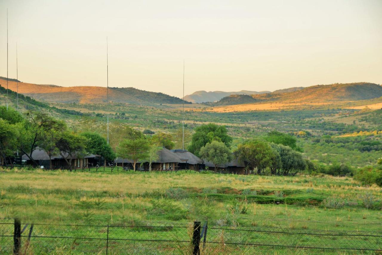
M381 0L1 0L0 76L59 86L273 91L382 83Z

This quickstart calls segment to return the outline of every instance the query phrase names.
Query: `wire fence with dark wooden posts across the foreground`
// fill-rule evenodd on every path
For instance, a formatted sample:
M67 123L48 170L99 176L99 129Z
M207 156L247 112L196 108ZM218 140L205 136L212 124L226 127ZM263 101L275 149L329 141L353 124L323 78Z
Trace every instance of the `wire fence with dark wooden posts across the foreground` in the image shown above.
M382 232L281 228L0 223L1 254L254 254L382 252Z

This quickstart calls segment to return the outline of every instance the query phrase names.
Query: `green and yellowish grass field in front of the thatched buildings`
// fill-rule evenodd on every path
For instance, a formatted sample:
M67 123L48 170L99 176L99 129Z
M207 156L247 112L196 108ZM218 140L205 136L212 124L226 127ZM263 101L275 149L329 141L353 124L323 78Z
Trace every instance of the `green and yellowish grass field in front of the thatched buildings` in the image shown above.
M219 242L271 242L298 246L317 245L325 236L259 232L230 232L230 229L275 230L303 233L379 232L381 236L382 188L361 187L348 177L329 176L257 176L201 174L195 172L110 172L110 169L91 169L91 172L6 170L0 172L0 218L19 217L23 223L79 224L100 227L36 226L40 234L94 237L105 236L107 224L116 226L110 238L135 233L140 238L165 236L178 240L175 246L157 243L114 241L114 253L183 253L189 242L194 220L208 220L207 240ZM4 222L11 223L10 220ZM8 226L8 225L4 225ZM11 225L10 225L11 226ZM13 226L13 225L12 225ZM130 226L130 228L126 228ZM167 226L153 230L141 226ZM168 227L171 226L171 227ZM134 230L132 230L132 228ZM220 228L226 228L221 230ZM9 230L9 229L8 229ZM89 234L90 233L90 234ZM261 235L260 235L261 234ZM268 236L267 236L268 235ZM284 236L283 236L284 235ZM154 236L154 237L153 237ZM274 240L272 239L274 238ZM374 238L374 237L373 237ZM382 242L381 237L378 242ZM116 238L118 239L118 238ZM131 239L131 238L128 238ZM0 239L2 244L8 239ZM9 239L10 240L10 239ZM8 241L9 241L8 240ZM97 252L104 252L102 240L91 240ZM358 247L369 247L367 238L356 242ZM88 242L60 239L40 242L30 251L40 253L39 247L50 252L77 253L89 247ZM90 241L89 241L90 242ZM87 244L87 245L86 245ZM73 247L75 246L75 249ZM112 244L111 244L112 245ZM153 246L154 245L154 246ZM341 239L329 238L321 245L351 245ZM355 244L354 244L355 245ZM379 243L379 249L381 249ZM3 245L0 245L5 247ZM329 247L328 246L328 247ZM112 246L113 247L113 246ZM152 250L152 247L156 247ZM175 247L175 248L174 248ZM254 247L208 244L206 253L253 253ZM320 246L322 247L322 246ZM181 249L182 248L182 249ZM224 249L223 249L224 248ZM41 248L42 249L42 248ZM135 250L134 250L135 249ZM262 253L299 252L322 253L338 250L307 250L257 247ZM95 252L94 250L94 252ZM151 251L151 252L150 252ZM155 251L155 252L154 252ZM87 252L91 253L90 250ZM84 252L84 253L87 253ZM346 250L344 251L346 253ZM80 252L79 252L80 253ZM355 254L354 251L351 254ZM187 253L186 253L187 254ZM374 254L374 253L371 253Z

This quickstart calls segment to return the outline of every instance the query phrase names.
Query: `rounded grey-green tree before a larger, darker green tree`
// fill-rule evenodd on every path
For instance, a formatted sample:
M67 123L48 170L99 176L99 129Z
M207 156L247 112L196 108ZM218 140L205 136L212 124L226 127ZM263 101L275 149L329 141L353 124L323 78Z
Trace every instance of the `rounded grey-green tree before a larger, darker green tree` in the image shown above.
M212 141L203 146L199 152L202 159L210 161L215 165L215 172L220 164L225 164L231 161L231 151L223 142Z

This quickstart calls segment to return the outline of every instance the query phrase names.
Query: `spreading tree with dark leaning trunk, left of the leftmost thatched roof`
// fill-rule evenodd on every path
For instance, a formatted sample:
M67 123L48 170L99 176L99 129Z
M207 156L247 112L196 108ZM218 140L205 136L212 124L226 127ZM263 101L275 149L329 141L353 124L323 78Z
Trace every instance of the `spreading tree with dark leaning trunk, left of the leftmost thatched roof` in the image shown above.
M33 151L37 146L44 146L46 140L52 137L52 133L63 132L65 124L44 112L28 112L26 117L18 140L20 150L37 166L37 162L32 158Z

